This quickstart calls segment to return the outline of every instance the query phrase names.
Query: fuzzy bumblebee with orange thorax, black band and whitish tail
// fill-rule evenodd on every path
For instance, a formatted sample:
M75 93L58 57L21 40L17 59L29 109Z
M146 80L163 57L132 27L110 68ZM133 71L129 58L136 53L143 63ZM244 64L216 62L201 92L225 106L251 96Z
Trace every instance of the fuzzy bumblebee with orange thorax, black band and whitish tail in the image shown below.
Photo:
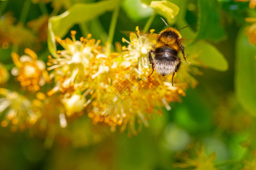
M164 20L163 22L168 26ZM155 44L152 46L150 52L148 52L148 59L153 69L151 74L153 74L154 70L162 76L172 74L172 86L174 86L174 75L180 69L181 65L181 58L178 55L180 51L185 61L189 63L186 59L184 46L181 42L181 35L178 30L180 29L169 27L159 34L155 34ZM189 65L191 65L191 63L189 63Z

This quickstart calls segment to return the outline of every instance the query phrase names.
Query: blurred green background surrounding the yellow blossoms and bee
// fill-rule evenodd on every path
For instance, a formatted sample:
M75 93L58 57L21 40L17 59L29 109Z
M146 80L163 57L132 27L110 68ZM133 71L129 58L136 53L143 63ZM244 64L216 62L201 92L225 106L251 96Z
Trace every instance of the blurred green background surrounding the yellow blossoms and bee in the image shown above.
M5 42L6 30L18 39L1 43L0 62L10 72L14 67L11 52L23 53L24 48L33 49L47 61L51 52L46 36L48 19L67 10L77 22L57 21L64 25L52 30L58 36L65 37L72 29L78 37L92 33L104 44L117 7L113 44L125 36L121 31L134 31L136 26L143 29L149 19L149 28L155 32L166 28L160 19L166 16L145 7L150 0L108 1L108 6L98 10L74 8L84 3L90 9L97 2L0 1L0 41ZM168 24L176 28L191 25L180 31L185 40L195 40L187 53L203 50L207 66L200 68L199 84L186 91L181 103L171 103L171 111L163 108L163 116L155 116L148 128L132 137L127 137L127 131L113 133L107 125L93 125L87 115L65 129L53 130L57 131L54 138L36 129L11 132L1 127L0 169L256 169L255 1L170 2L180 11L175 19L166 19ZM15 18L11 24L4 22L9 14ZM246 18L254 20L246 22ZM36 19L39 21L32 23ZM12 77L8 88L18 88Z

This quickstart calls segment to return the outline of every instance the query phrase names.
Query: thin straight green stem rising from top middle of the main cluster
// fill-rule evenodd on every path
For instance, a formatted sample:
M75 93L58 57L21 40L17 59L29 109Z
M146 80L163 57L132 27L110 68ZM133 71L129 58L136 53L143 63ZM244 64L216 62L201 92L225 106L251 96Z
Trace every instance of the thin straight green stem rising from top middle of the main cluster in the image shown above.
M118 2L120 3L120 2ZM119 8L120 5L118 4L117 7L115 7L115 10L112 15L110 27L109 27L109 37L108 37L108 44L106 45L106 56L109 56L113 38L114 38L114 32L115 32L115 25L117 24L117 18L119 14Z

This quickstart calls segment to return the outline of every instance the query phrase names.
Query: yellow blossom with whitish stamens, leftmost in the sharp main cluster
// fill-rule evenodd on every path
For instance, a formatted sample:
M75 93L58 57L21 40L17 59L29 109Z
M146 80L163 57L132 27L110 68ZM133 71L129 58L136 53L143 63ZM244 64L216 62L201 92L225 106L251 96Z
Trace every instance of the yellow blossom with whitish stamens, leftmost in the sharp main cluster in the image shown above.
M87 82L94 79L101 73L108 72L104 67L104 62L100 63L100 58L106 58L101 51L100 41L86 39L81 37L80 41L75 38L76 31L71 31L71 39L61 40L56 37L57 42L63 46L64 50L57 51L57 56L52 58L49 56L47 63L48 70L53 70L51 76L54 77L56 86L48 92L52 95L57 91L72 92L81 86L86 86ZM100 63L100 65L99 65ZM106 66L107 67L107 66Z

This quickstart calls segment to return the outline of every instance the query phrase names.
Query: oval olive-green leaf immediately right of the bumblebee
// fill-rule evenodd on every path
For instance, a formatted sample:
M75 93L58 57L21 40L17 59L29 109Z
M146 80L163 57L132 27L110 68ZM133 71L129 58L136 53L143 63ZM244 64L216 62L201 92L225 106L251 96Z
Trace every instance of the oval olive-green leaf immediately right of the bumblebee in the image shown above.
M188 56L188 61L192 65L209 67L217 71L228 70L228 62L221 52L213 45L205 41L198 41L188 45L185 49ZM193 57L189 60L189 56ZM200 61L200 62L198 62Z

